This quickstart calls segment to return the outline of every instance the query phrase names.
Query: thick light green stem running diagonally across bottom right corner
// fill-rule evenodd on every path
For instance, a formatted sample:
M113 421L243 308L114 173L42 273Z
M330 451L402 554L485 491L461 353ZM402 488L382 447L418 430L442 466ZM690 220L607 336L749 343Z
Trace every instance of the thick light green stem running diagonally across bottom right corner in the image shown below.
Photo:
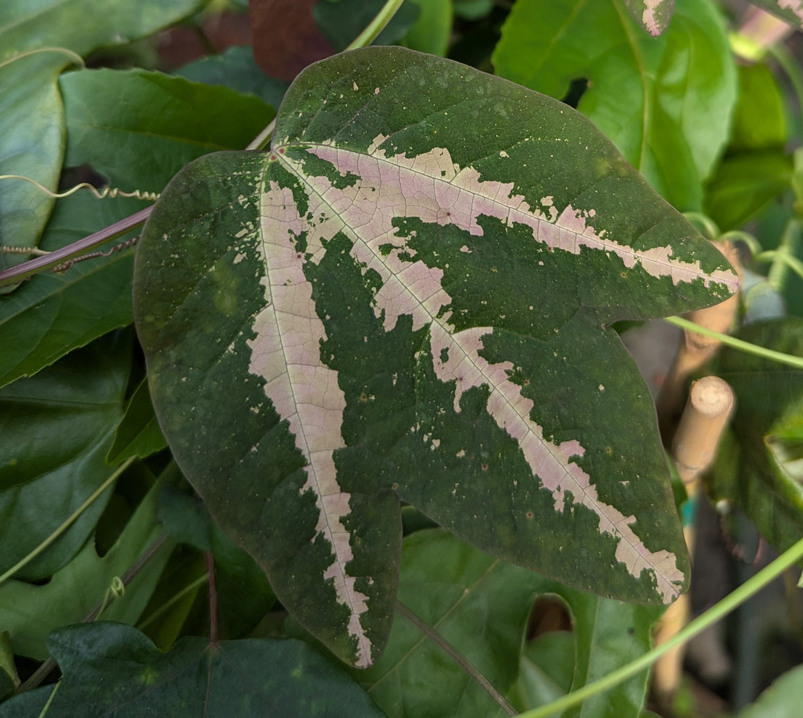
M605 675L605 677L577 691L573 691L558 700L554 700L552 703L521 713L521 718L547 718L547 716L565 711L567 708L573 708L573 706L581 704L587 698L597 696L597 694L608 691L610 688L622 683L622 681L632 678L634 675L649 668L668 651L686 643L689 639L719 621L719 619L724 618L724 616L728 615L737 606L747 601L753 594L756 594L764 588L764 586L767 586L769 582L772 582L772 580L783 574L785 570L794 566L801 558L803 558L803 538L792 546L792 548L786 550L781 556L776 558L775 561L752 576L752 578L748 578L746 582L731 594L728 594L728 596L723 598L719 603L711 606L708 611L691 621L691 623L681 629L675 636L666 641L666 643L662 643L651 651L647 651L634 661L627 663L625 666L618 668L616 671Z

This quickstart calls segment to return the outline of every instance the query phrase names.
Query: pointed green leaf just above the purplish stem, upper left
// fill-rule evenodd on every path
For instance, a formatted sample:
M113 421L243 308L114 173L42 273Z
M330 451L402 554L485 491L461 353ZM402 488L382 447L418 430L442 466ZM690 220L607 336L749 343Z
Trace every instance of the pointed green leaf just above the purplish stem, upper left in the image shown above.
M161 72L84 70L63 75L59 87L65 164L91 164L128 191L160 192L190 160L245 148L275 116L252 95Z

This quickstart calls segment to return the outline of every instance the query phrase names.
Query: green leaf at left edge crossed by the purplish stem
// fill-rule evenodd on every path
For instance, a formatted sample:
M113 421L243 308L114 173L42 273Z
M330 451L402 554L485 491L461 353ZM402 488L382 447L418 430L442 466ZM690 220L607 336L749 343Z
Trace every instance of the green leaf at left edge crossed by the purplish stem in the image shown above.
M59 249L145 206L98 200L82 192L56 202L40 246ZM0 387L34 375L68 351L133 320L133 250L78 262L65 274L46 272L0 297Z

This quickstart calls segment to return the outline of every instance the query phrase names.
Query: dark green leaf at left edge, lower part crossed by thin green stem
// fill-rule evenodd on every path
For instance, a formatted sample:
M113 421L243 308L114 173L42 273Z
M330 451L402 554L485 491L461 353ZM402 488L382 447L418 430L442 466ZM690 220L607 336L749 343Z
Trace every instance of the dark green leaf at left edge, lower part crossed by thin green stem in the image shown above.
M112 473L104 457L123 416L130 355L130 335L101 340L0 390L0 572L39 546ZM69 561L110 494L18 576L45 578Z

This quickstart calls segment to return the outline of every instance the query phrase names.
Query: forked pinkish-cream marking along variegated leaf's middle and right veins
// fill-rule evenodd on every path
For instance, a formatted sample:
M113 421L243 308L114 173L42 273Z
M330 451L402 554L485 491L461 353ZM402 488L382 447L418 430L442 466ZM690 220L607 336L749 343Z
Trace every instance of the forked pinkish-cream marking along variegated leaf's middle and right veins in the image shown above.
M375 270L382 286L374 298L377 317L384 314L386 331L397 318L409 314L414 329L430 327L430 345L434 370L442 381L454 381L454 411L460 411L459 400L471 387L487 386L490 396L487 411L500 428L515 438L524 452L534 476L552 492L555 509L564 509L565 492L572 493L573 502L587 506L599 517L599 530L618 538L616 558L638 578L643 570L654 574L658 593L665 602L678 594L683 574L677 569L675 555L667 551L650 552L630 529L633 516L625 517L618 509L599 500L597 489L588 474L575 463L585 449L577 441L553 444L544 439L542 428L530 418L532 400L522 396L521 387L508 378L512 363L488 363L479 356L483 337L493 333L492 327L475 327L455 331L450 324L450 312L442 310L451 298L442 287L443 272L424 262L411 260L414 250L406 246L406 237L397 237L393 219L418 217L422 221L446 225L453 223L473 235L481 236L477 223L480 214L499 217L507 225L521 223L532 228L536 241L577 254L581 246L613 251L626 266L637 262L654 276L670 276L675 283L703 278L735 284L729 272L704 274L699 264L687 264L669 258L669 247L637 253L626 245L597 234L586 224L593 210L577 212L567 207L558 216L552 197L544 197L541 205L550 216L531 209L524 197L511 196L512 184L480 181L474 168L459 168L451 161L446 149L434 148L416 157L404 154L388 157L379 149L385 138L374 140L367 154L337 148L332 144L310 145L307 151L327 160L343 176L347 173L360 179L353 185L338 189L326 176L311 176L304 165L281 153L271 157L296 173L308 187L308 217L300 219L293 233L306 231L308 251L312 261L320 261L328 240L340 231L354 240L351 253L364 271ZM299 221L294 214L293 221ZM287 227L284 229L287 232ZM382 245L393 245L386 256ZM402 258L402 252L406 258ZM446 349L448 359L440 359Z

